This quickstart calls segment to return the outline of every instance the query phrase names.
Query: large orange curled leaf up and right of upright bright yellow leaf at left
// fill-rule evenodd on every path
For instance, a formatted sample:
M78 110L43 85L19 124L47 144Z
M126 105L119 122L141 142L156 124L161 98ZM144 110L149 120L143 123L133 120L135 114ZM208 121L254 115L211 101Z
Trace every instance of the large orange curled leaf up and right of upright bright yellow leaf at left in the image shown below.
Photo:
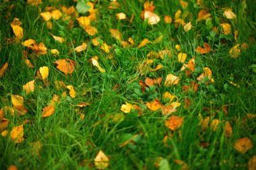
M59 59L54 62L57 65L57 69L63 72L65 75L71 75L75 70L75 62L70 59Z

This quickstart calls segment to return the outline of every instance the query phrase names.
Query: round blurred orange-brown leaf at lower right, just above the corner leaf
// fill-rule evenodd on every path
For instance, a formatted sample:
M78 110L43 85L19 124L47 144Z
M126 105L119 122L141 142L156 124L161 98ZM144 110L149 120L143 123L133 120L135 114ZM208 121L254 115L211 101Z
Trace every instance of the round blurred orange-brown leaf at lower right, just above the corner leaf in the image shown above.
M253 142L247 137L240 138L234 143L234 149L239 153L247 153L251 148L253 148Z

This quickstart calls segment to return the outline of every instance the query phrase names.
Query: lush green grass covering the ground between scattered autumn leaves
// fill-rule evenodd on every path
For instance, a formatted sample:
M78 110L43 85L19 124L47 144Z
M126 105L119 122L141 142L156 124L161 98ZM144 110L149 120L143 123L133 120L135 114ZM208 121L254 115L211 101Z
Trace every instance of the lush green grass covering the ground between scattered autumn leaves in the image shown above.
M40 11L45 11L45 7L49 6L57 9L62 5L69 7L75 5L73 1L43 1L35 7L27 5L25 1L15 1L12 8L12 1L1 3L0 67L5 62L8 62L9 67L0 78L0 108L12 107L11 94L14 94L24 97L24 105L28 109L28 113L23 116L18 116L17 113L14 116L5 114L9 124L3 130L11 132L13 127L19 126L24 120L32 120L32 123L24 124L24 141L20 144L15 144L10 134L0 136L0 169L7 169L10 165L15 165L18 169L96 169L94 158L100 150L110 160L107 169L158 169L154 166L158 157L166 159L170 169L181 169L175 159L187 163L189 169L248 169L249 159L256 152L255 146L242 154L234 149L233 144L243 137L250 138L254 144L256 142L255 118L247 118L247 114L256 113L256 73L251 68L251 65L256 64L255 5L253 1L247 1L247 9L243 9L242 1L205 1L205 6L211 13L212 25L218 28L218 34L209 38L213 34L212 29L207 30L205 21L196 21L200 11L195 5L196 1L187 2L189 7L183 9L179 1L155 1L154 12L160 16L161 21L154 26L149 26L140 17L143 2L119 1L121 7L115 10L107 9L109 1L96 2L98 22L92 22L91 25L98 29L96 36L113 46L110 54L115 56L111 59L107 59L108 54L99 47L92 45L92 39L96 36L89 36L74 18L71 29L67 28L68 22L62 19L52 20L53 30L46 27ZM224 7L233 9L237 16L236 21L222 15ZM193 26L189 32L184 32L182 27L175 28L173 22L164 22L165 15L174 19L174 13L179 9L191 15L191 19L185 19L185 23L191 22ZM128 19L118 21L115 14L120 12L126 13ZM129 23L132 14L134 19ZM27 48L20 42L9 43L7 40L14 36L10 26L14 17L22 22L22 42L29 38L37 43L43 42L48 50L59 50L59 56L54 56L51 52L38 58L28 56L35 66L34 69L28 68L22 55L22 50ZM232 34L221 33L220 24L225 22L232 26ZM123 49L120 42L110 36L108 30L111 28L121 32L122 40L133 38L135 46ZM234 41L234 30L238 30L237 42ZM49 32L64 37L66 42L61 44L53 40ZM153 41L161 35L164 38L159 44L137 48L144 38ZM81 45L82 42L88 44L84 52L69 53L71 48ZM204 42L210 44L214 52L195 52L195 48L203 46ZM243 50L237 59L230 58L230 48L244 42L249 44L249 49ZM195 56L195 72L190 77L180 71L182 64L177 60L174 47L176 44L181 45L181 52L188 54L186 62ZM172 58L156 59L151 65L152 68L158 64L164 67L155 72L144 71L144 75L141 75L138 67L146 60L148 52L158 52L166 48L172 51ZM100 73L88 61L92 56L98 56L106 73ZM75 71L71 75L65 76L56 69L53 62L60 58L75 61ZM49 77L46 79L49 85L45 86L42 80L36 79L34 93L26 95L23 85L35 79L36 72L43 66L49 67ZM183 93L182 87L189 85L191 81L197 82L196 78L203 73L203 67L212 70L215 83L201 83L197 92ZM164 81L168 74L179 76L179 84L165 87ZM162 77L163 81L160 87L148 88L143 93L139 80L145 81L146 77ZM61 96L63 93L63 90L55 88L56 80L63 81L65 85L73 85L77 97L71 98L67 93L67 97L62 98L55 106L55 113L48 118L42 118L42 108L49 104L54 94ZM240 88L231 85L229 81L238 84ZM115 85L119 85L119 88L113 88ZM86 95L81 95L85 91ZM174 132L164 125L169 116L162 115L160 110L152 112L145 105L156 98L163 104L168 103L162 99L166 91L179 97L181 107L177 108L174 115L184 117L183 125ZM186 98L193 101L189 108L184 108ZM139 105L143 113L139 115L136 110L131 110L124 114L123 119L115 122L110 116L121 114L121 105L125 101ZM75 105L81 102L89 102L90 105L77 108ZM227 106L228 115L225 115L222 106L227 104L230 105ZM208 110L205 111L206 108ZM77 109L85 114L84 120L79 118ZM214 119L220 120L222 123L218 130L213 132L209 125L202 131L199 127L199 114L203 118L210 116L210 122ZM224 132L226 121L230 122L233 130L230 138ZM164 136L172 133L172 139L164 144ZM139 136L133 143L119 147L127 136L135 134ZM39 155L34 154L31 146L32 142L37 141L42 145ZM209 146L203 148L199 146L201 143L208 143Z

